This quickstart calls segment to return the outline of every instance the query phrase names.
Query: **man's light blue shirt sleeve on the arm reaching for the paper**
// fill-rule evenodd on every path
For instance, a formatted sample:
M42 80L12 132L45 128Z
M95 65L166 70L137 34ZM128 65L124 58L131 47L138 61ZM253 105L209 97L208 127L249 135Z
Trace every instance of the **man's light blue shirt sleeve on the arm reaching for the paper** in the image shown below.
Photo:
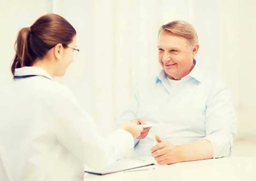
M131 121L133 119L138 118L138 109L139 109L139 93L138 89L135 90L135 93L132 97L132 99L127 104L127 107L125 107L124 111L121 113L121 115L117 118L116 126L118 127L119 124ZM134 146L139 142L139 139L134 139Z

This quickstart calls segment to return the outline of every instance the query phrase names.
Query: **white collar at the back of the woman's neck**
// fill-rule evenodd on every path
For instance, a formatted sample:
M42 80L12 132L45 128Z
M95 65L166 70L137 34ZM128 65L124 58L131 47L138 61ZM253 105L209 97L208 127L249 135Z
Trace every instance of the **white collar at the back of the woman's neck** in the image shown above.
M44 69L40 67L34 67L34 66L25 66L22 68L17 68L15 69L14 76L15 77L43 76L43 77L49 78L50 80L53 80L53 77L50 76L50 74L47 73Z

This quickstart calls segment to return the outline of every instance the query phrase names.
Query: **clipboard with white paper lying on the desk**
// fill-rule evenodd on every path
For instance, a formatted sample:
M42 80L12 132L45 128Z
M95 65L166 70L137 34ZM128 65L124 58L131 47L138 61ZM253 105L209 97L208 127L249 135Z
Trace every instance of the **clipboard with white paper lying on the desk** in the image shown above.
M137 158L121 158L117 159L117 161L112 163L112 165L110 165L108 168L100 171L96 171L87 166L84 166L84 172L95 175L106 175L110 173L122 172L125 170L131 170L150 165L155 165L155 163Z

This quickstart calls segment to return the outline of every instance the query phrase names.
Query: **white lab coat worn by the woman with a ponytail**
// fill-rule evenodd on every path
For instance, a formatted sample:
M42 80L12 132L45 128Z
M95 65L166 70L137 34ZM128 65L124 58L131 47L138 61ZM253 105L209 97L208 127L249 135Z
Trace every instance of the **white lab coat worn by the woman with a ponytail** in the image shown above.
M15 76L0 89L0 162L11 180L81 181L84 164L100 170L132 149L125 130L102 138L68 88L43 69L23 67Z

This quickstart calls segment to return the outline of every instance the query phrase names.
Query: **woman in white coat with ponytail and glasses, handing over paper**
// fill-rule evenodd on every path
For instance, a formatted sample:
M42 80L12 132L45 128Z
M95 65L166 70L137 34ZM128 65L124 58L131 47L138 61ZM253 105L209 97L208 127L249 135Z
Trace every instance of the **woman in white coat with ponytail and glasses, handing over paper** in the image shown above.
M102 138L68 88L53 80L75 51L76 31L61 16L42 16L19 31L14 81L0 91L1 163L9 180L83 180L84 164L104 169L142 132L143 120L133 120Z

